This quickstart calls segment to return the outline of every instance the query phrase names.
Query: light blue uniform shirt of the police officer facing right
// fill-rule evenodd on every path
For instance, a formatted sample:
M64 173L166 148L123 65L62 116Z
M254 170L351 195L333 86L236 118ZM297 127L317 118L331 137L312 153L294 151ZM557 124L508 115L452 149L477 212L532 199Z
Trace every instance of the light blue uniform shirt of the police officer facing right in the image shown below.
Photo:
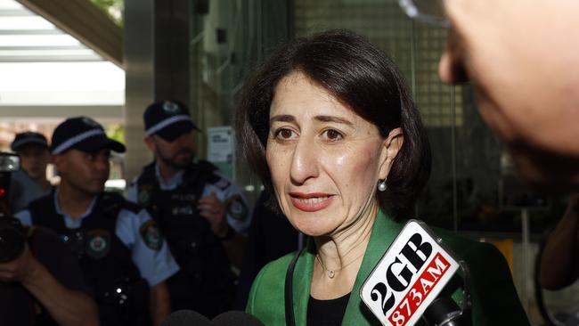
M86 209L85 214L77 219L73 219L71 216L61 211L56 197L57 192L58 188L53 192L54 208L56 209L56 212L61 216L64 216L64 224L66 227L69 229L79 228L83 219L93 212L96 197ZM30 211L28 209L15 214L15 217L18 218L22 224L32 224L32 216L30 216ZM149 221L151 221L151 216L145 209L141 209L137 214L127 209L121 209L118 212L115 234L117 234L118 239L126 245L126 248L131 251L133 262L139 269L141 276L152 287L159 284L161 281L167 280L168 277L179 270L179 266L176 264L173 256L171 256L165 240L163 240L160 249L155 250L153 248L155 248L156 245L151 243L151 241L154 240L143 239L139 230L143 224L146 224Z

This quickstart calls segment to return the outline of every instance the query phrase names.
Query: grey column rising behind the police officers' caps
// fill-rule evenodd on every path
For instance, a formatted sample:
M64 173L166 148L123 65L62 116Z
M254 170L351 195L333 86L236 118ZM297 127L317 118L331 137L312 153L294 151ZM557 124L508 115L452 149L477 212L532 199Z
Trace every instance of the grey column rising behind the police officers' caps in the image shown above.
M176 99L189 107L188 0L125 1L125 175L131 181L151 162L143 143L143 111Z

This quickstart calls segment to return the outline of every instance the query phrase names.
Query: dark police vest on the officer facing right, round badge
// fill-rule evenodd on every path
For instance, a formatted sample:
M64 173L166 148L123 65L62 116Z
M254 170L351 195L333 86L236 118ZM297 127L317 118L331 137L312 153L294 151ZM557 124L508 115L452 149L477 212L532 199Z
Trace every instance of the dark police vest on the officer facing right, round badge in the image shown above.
M86 285L99 307L102 326L148 325L149 285L133 263L131 252L115 232L121 209L135 212L138 206L113 193L102 193L93 212L77 229L64 224L54 208L54 193L29 204L32 222L61 235L78 257Z

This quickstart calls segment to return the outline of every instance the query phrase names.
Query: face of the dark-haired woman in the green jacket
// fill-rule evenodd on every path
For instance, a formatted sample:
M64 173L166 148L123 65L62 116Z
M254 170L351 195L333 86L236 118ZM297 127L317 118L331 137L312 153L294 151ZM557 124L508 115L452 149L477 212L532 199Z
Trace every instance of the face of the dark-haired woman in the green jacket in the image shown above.
M376 213L376 184L402 145L299 72L275 87L266 157L281 210L308 235L331 235Z

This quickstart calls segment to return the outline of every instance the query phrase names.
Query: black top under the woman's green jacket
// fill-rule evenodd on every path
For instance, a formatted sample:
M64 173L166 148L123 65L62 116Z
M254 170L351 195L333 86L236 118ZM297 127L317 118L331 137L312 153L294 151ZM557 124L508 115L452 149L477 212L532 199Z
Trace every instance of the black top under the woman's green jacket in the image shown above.
M307 303L307 326L341 325L349 298L350 293L331 300L318 300L310 296Z

